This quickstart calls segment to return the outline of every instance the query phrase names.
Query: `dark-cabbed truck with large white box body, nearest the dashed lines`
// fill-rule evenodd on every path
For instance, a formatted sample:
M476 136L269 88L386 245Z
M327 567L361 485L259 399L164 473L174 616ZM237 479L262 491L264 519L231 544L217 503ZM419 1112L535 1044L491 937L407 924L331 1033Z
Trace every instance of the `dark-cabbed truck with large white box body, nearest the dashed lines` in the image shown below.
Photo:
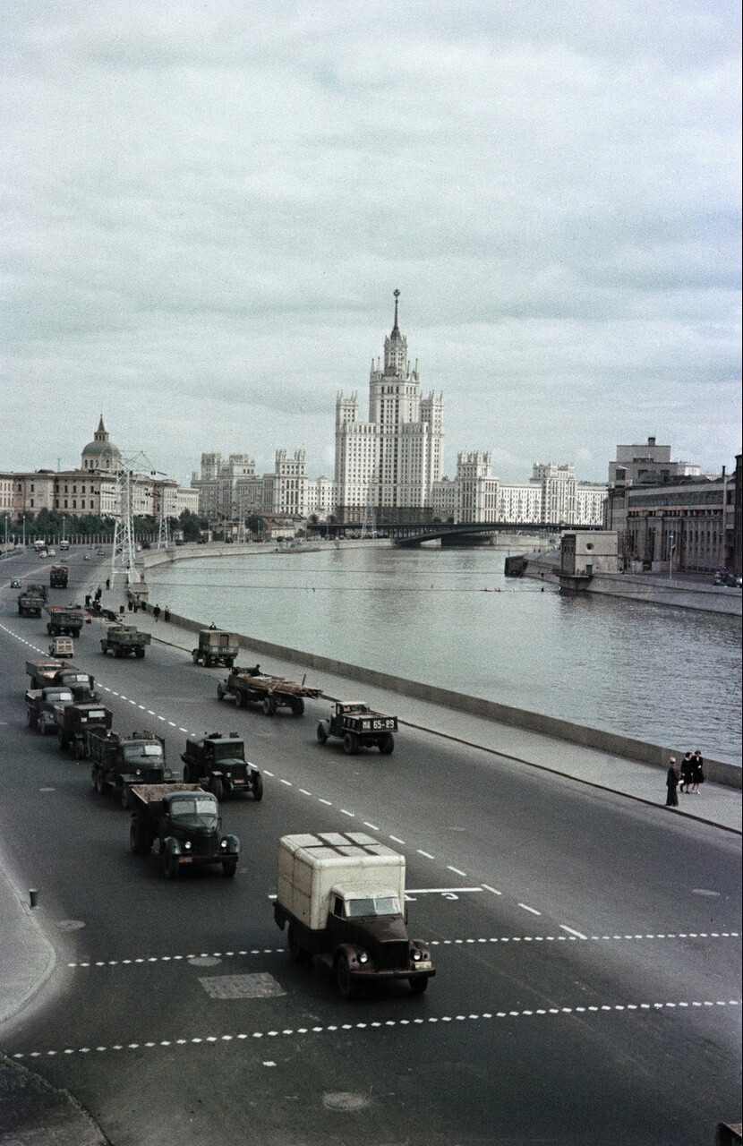
M407 979L421 995L436 974L425 943L408 939L405 856L362 832L284 835L274 919L289 925L292 959L314 957L343 998L365 983Z

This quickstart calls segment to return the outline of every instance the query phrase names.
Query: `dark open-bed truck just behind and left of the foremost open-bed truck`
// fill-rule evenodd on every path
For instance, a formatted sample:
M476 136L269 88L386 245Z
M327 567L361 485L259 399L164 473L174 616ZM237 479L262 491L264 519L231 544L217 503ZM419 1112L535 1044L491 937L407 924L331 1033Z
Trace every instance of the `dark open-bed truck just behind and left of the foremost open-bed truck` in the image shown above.
M117 736L87 729L83 733L83 755L93 762L91 784L102 795L118 794L122 807L132 807L133 784L177 784L178 777L165 767L165 741L155 732Z

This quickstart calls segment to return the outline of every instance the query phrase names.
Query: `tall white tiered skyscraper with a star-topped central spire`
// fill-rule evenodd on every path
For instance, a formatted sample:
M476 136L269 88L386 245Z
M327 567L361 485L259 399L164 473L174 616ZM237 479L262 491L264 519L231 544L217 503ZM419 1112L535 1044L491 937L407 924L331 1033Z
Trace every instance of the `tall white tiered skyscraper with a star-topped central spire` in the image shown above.
M336 401L336 515L360 520L367 504L382 521L428 516L431 486L441 477L444 398L421 398L417 360L410 369L407 338L394 325L384 339L384 367L372 362L369 421L359 422L359 397Z

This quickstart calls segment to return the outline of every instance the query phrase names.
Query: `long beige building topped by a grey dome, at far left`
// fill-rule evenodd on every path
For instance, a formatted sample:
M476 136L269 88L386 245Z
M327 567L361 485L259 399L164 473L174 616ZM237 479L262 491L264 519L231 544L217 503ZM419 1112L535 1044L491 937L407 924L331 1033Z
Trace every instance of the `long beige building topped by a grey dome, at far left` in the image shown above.
M119 513L118 477L124 472L122 453L110 440L103 415L93 440L80 454L77 470L0 472L0 513L14 519L47 509L68 517L116 517ZM180 517L185 509L198 511L198 492L181 488L173 478L136 473L133 482L135 516Z

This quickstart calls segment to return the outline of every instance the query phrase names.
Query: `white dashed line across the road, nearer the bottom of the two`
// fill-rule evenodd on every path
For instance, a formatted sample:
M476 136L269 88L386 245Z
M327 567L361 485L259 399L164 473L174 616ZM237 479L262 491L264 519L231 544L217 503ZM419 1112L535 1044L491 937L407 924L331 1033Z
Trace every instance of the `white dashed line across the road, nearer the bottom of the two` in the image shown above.
M96 1046L95 1052L99 1054L104 1054L108 1051L144 1051L154 1050L155 1047L169 1047L169 1046L203 1046L204 1044L213 1046L217 1043L232 1043L236 1039L244 1042L249 1038L291 1038L297 1035L322 1035L322 1034L337 1034L338 1031L350 1031L350 1030L388 1030L390 1027L424 1027L432 1026L438 1022L487 1022L490 1020L499 1019L523 1019L523 1018L534 1018L535 1015L593 1015L593 1014L623 1014L626 1015L631 1012L663 1012L663 1011L675 1011L675 1010L687 1010L689 1007L736 1007L741 1005L740 999L694 999L691 1002L686 999L679 999L675 1002L665 1003L611 1003L599 1005L587 1005L587 1006L550 1006L550 1007L532 1007L530 1010L522 1011L482 1011L470 1014L440 1014L440 1015L429 1015L427 1019L385 1019L384 1021L378 1020L374 1022L343 1022L334 1023L324 1027L288 1027L283 1030L252 1030L252 1031L241 1031L236 1035L201 1035L193 1038L161 1038L161 1039L149 1039L142 1043L114 1043L111 1046ZM91 1046L65 1046L62 1050L47 1050L47 1051L18 1051L11 1054L11 1058L16 1061L22 1059L38 1059L38 1058L53 1058L57 1054L91 1054Z

